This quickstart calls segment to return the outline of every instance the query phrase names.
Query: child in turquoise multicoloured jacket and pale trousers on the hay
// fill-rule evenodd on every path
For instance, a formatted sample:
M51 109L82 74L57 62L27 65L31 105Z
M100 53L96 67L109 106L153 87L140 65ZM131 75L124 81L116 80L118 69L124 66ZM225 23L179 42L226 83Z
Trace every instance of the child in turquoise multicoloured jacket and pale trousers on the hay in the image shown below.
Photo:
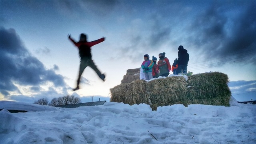
M149 59L149 55L145 54L144 55L144 61L141 64L141 68L143 69L144 75L145 75L145 80L150 80L153 78L152 76L152 67L154 63L152 60Z

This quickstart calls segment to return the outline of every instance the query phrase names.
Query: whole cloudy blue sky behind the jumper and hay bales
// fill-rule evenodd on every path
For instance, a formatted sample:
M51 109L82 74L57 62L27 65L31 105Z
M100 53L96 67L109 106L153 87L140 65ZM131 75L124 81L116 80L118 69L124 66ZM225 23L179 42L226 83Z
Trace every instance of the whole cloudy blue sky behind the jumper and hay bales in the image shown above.
M190 55L188 71L223 72L238 101L256 100L255 7L253 0L0 0L0 100L72 94L108 101L144 54L165 52L172 64L180 45ZM106 37L92 47L106 80L86 68L73 92L80 59L68 35L78 41L80 33L88 41Z

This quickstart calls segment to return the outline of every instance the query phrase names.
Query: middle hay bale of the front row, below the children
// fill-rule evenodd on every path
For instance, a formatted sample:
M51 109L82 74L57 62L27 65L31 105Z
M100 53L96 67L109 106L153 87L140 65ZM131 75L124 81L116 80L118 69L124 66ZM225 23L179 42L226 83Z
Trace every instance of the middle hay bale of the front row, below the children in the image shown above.
M155 79L148 82L147 92L153 105L173 105L186 98L187 83L184 77Z

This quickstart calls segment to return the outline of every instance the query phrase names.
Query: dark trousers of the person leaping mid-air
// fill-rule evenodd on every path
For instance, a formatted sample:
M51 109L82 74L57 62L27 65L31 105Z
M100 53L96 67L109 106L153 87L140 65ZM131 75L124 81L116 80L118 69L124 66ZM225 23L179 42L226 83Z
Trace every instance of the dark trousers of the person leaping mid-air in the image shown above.
M78 75L78 79L77 79L77 87L80 83L81 75L84 72L84 69L88 66L91 67L98 74L98 76L101 75L101 72L98 70L97 66L94 64L94 62L91 58L87 58L87 57L81 58L79 75Z

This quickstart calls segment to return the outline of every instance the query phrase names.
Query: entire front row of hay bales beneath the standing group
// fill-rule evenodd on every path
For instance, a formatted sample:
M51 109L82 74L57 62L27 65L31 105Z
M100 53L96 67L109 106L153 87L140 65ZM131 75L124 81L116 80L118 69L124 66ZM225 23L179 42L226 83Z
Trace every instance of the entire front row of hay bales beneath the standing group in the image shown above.
M173 104L229 106L231 92L227 83L227 75L220 72L195 74L187 81L183 76L135 80L110 89L110 101L130 105L146 103L152 110Z

